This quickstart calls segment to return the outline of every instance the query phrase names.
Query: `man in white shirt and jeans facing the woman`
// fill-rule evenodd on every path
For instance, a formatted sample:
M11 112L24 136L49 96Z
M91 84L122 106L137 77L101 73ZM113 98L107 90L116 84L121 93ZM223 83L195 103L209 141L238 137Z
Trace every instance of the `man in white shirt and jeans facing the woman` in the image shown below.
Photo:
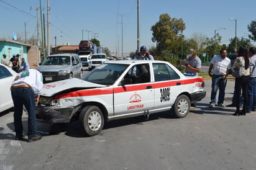
M211 71L213 70L213 74ZM227 58L227 50L221 49L220 54L213 57L209 66L208 74L212 78L211 84L211 102L209 107L214 107L216 104L217 89L219 89L219 99L217 106L226 107L223 104L225 97L225 88L227 84L227 75L231 70L231 60Z

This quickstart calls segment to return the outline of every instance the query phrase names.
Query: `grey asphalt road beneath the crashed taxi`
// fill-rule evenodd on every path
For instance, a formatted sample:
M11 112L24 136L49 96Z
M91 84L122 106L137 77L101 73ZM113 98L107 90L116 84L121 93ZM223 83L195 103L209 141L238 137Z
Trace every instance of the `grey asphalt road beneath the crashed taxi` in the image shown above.
M206 97L184 119L169 112L116 120L86 137L78 122L37 123L42 140L13 140L13 112L0 119L0 169L256 169L256 112L234 117L234 107L209 108ZM234 81L227 83L231 103ZM23 115L27 131L27 115ZM27 136L26 136L27 137Z

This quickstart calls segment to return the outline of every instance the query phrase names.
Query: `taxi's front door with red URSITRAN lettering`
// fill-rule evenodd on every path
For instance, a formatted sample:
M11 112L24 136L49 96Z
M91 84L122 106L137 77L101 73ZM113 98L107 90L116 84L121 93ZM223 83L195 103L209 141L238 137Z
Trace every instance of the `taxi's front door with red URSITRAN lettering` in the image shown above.
M152 110L154 91L150 83L149 64L133 66L124 78L131 79L132 84L114 88L114 116Z

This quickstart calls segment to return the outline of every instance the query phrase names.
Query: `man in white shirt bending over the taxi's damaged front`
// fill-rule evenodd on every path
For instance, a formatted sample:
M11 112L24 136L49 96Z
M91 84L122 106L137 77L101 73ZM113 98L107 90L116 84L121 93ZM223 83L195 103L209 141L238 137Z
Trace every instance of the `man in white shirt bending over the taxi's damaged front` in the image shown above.
M28 142L40 140L37 135L35 105L39 102L43 90L42 74L36 69L27 69L17 74L11 86L12 101L14 103L14 127L16 140L24 140L22 126L23 105L27 109L28 118Z

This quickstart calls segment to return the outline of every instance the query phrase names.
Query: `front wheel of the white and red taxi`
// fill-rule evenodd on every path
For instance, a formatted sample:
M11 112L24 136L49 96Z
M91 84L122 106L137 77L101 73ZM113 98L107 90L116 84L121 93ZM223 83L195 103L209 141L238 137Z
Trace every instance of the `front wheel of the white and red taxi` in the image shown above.
M95 105L86 106L79 115L79 122L88 136L98 135L104 126L101 109Z

